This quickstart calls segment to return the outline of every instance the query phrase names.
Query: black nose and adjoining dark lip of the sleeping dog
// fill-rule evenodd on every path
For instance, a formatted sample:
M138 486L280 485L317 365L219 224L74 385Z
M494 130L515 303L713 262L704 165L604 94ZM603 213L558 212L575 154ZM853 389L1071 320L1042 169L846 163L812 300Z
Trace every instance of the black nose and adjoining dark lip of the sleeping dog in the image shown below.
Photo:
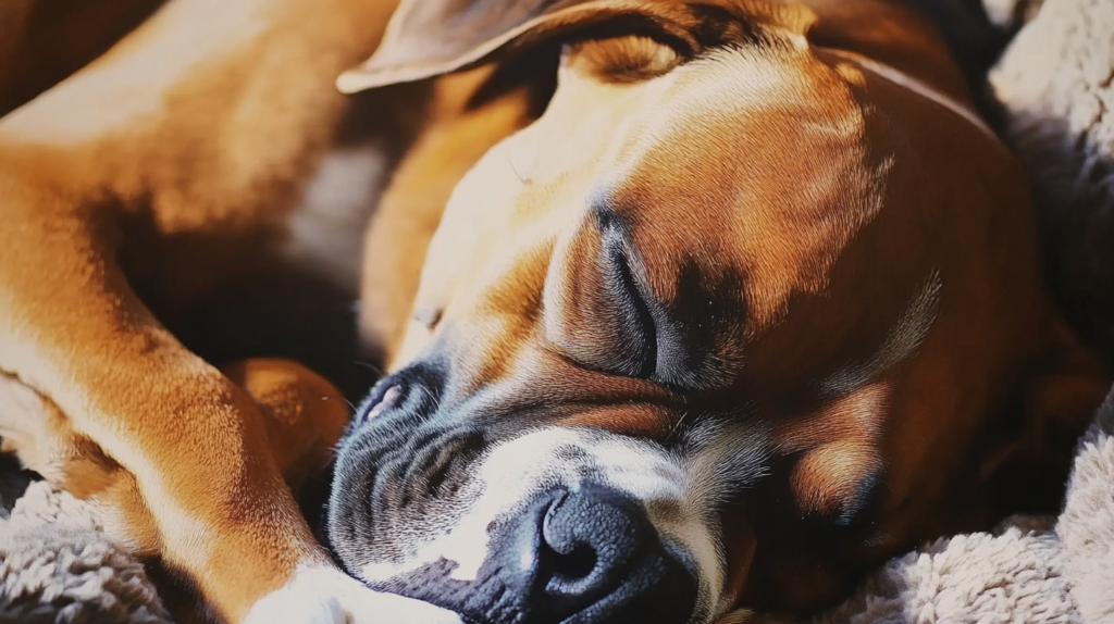
M479 624L683 624L695 575L671 554L641 503L582 486L534 497L489 527L473 578L441 559L375 588L456 611Z

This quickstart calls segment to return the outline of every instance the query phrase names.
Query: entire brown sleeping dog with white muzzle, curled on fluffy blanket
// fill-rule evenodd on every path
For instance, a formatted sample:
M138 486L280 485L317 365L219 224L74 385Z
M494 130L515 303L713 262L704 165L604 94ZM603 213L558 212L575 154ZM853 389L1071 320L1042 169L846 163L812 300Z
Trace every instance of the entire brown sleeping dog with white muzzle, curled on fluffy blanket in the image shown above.
M821 604L911 541L977 524L989 475L1040 455L1046 429L1069 438L1101 398L1098 368L1063 355L1020 170L913 13L414 7L342 87L511 60L381 91L369 106L393 112L372 142L351 139L359 111L332 83L375 48L393 9L375 0L169 0L0 119L0 372L38 402L0 412L0 434L120 511L120 537L216 616L453 618L332 566L260 416L278 399L150 311L278 259L343 278L338 239L377 201L361 325L400 373L350 433L330 536L364 583L471 618ZM549 108L514 133L568 37ZM993 438L1003 422L1013 437ZM336 433L317 435L320 450ZM75 459L87 448L95 471ZM546 519L508 551L522 505ZM600 531L637 537L641 563L608 567L599 553L623 547L571 535L558 508L612 518ZM563 555L590 543L607 578L538 590L537 522L543 541L571 532ZM502 551L526 576L492 563Z

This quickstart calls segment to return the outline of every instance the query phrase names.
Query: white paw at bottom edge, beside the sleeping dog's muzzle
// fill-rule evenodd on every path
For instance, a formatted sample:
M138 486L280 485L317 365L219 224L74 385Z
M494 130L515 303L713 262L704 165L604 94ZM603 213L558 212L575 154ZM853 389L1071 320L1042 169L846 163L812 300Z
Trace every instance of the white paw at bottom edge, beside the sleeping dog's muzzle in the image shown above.
M263 596L245 624L461 624L455 613L364 587L332 567L302 568Z

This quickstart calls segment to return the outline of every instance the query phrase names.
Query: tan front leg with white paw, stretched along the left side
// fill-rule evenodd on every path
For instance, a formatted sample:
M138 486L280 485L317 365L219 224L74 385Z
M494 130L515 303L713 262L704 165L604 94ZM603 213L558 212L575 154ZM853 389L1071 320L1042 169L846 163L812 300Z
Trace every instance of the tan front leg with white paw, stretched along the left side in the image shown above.
M163 562L214 614L255 622L453 621L338 571L283 483L260 413L152 317L95 219L0 180L0 370L135 477Z

